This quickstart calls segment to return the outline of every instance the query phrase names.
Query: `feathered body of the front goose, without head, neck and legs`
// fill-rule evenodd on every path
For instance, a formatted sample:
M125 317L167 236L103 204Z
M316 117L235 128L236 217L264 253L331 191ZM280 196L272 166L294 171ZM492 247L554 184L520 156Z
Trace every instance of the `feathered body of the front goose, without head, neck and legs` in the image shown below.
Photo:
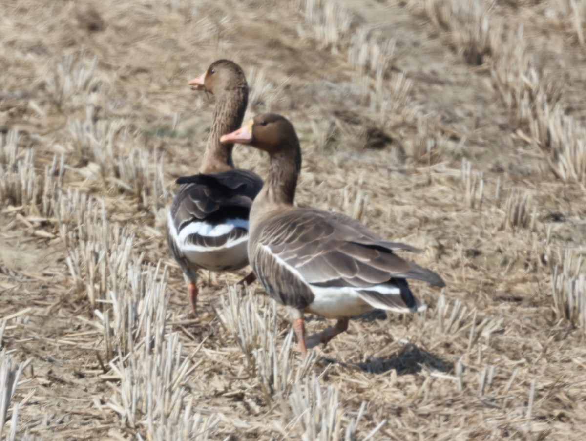
M372 307L417 310L422 305L406 279L445 286L434 272L394 253L418 249L381 239L340 213L297 208L271 216L253 234L249 255L258 279L271 296L300 309L318 297L336 303L359 296Z

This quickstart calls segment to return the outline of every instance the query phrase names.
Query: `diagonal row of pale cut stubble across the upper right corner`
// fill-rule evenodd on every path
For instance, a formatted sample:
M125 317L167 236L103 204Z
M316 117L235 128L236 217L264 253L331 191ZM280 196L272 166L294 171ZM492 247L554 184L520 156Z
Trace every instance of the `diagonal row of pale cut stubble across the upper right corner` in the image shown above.
M565 112L560 103L559 82L545 80L536 60L527 49L522 25L504 32L503 19L490 2L468 0L414 1L438 28L449 32L449 42L464 54L468 63L487 62L493 87L512 112L512 124L520 137L547 154L551 171L564 181L586 179L584 126ZM580 12L573 3L574 21ZM578 32L580 39L581 32ZM581 36L583 40L583 35ZM529 131L528 137L524 132Z

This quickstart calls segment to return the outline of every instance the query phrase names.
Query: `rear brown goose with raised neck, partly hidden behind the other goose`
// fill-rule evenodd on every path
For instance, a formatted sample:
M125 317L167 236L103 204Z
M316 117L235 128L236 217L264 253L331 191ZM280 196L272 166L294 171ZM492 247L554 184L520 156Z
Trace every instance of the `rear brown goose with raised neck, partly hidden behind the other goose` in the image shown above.
M251 171L235 169L233 145L220 141L220 135L240 127L246 111L248 86L240 66L217 60L189 84L211 92L216 106L199 174L177 179L181 185L169 210L167 240L196 314L197 269L233 271L248 264L248 215L263 181ZM243 279L253 280L253 273Z

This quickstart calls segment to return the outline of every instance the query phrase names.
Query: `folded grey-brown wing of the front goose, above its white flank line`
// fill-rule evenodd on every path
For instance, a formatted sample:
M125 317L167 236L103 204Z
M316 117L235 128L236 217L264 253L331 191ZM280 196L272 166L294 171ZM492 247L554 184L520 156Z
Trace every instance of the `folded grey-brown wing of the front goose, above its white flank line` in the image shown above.
M393 253L418 249L384 240L340 213L296 208L267 219L257 240L315 286L366 288L402 278L445 286L431 270Z

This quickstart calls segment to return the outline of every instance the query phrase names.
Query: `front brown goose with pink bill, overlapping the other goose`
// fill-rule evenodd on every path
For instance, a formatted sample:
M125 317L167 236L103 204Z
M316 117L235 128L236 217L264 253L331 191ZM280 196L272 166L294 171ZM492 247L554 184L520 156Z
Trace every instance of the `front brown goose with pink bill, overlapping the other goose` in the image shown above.
M301 150L286 118L259 115L220 140L250 144L270 156L265 185L250 211L248 256L265 291L291 311L304 356L306 348L346 331L349 317L373 308L423 309L406 279L445 286L437 274L393 253L419 250L385 240L341 213L293 205ZM305 338L304 313L338 323Z

